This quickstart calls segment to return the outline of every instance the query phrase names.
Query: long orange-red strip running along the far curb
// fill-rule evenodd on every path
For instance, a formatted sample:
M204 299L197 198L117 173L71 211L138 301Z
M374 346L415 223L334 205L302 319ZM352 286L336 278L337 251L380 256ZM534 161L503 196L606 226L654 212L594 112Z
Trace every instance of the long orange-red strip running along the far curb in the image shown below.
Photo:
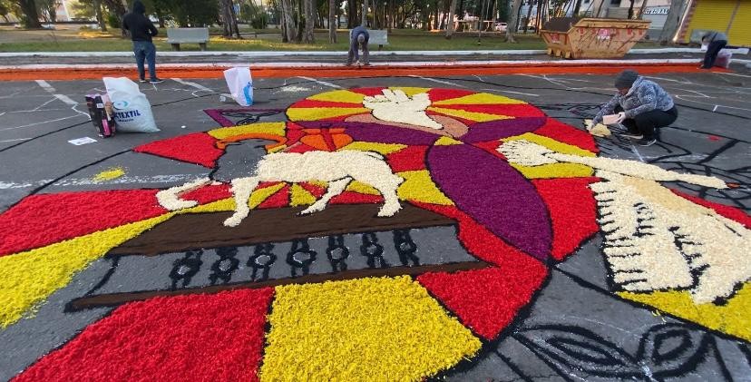
M519 64L496 64L496 65L450 65L450 66L375 66L365 69L346 68L346 67L300 67L300 68L278 68L278 67L253 67L253 77L255 78L288 78L299 75L310 75L316 73L317 78L336 78L336 77L389 77L395 75L410 75L419 72L423 76L440 76L440 75L473 75L473 74L612 74L619 73L624 69L639 68L639 73L706 73L697 68L697 64L529 64L520 62ZM223 71L226 67L206 66L206 67L161 67L160 76L163 78L224 78ZM137 79L135 69L123 68L58 68L58 69L2 69L0 70L0 81L33 81L33 80L98 80L102 77L120 77L129 71L132 80ZM728 72L727 70L715 68L715 72Z

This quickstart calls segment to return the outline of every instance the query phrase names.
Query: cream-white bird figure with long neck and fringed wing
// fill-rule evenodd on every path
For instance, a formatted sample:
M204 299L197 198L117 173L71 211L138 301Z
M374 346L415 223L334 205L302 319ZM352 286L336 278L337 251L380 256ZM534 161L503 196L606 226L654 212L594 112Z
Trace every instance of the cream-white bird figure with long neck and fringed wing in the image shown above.
M751 231L735 220L682 198L658 181L722 189L714 177L682 174L619 159L553 152L518 140L498 148L509 162L536 166L579 163L604 181L590 189L600 208L604 252L613 280L630 291L689 289L697 304L731 297L751 279Z

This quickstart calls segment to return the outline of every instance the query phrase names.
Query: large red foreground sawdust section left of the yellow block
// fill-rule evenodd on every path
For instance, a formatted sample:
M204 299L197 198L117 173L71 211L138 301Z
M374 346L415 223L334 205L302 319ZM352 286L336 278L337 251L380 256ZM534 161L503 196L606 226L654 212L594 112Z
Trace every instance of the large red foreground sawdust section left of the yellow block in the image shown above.
M273 293L239 289L124 305L14 381L258 380Z

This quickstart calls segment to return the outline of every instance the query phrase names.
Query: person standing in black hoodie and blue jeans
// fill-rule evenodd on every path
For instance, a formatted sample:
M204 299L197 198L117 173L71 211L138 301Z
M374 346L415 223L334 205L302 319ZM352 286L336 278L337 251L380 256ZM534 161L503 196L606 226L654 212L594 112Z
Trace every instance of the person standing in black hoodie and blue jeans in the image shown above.
M146 17L146 7L143 6L141 0L135 0L132 9L131 13L122 17L122 29L131 33L133 53L138 65L138 78L141 83L146 82L146 73L143 68L143 62L146 61L149 64L149 82L161 83L162 80L156 76L156 46L151 42L151 37L159 32Z

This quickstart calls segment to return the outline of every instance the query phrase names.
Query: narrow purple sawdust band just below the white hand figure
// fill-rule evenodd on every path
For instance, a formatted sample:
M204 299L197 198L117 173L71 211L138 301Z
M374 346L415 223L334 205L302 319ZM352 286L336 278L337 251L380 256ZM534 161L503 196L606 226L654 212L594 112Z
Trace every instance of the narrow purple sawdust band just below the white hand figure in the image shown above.
M399 143L411 145L433 144L440 135L419 130L405 129L403 127L387 126L378 123L367 122L297 122L307 129L321 129L327 127L346 128L346 133L355 141Z

